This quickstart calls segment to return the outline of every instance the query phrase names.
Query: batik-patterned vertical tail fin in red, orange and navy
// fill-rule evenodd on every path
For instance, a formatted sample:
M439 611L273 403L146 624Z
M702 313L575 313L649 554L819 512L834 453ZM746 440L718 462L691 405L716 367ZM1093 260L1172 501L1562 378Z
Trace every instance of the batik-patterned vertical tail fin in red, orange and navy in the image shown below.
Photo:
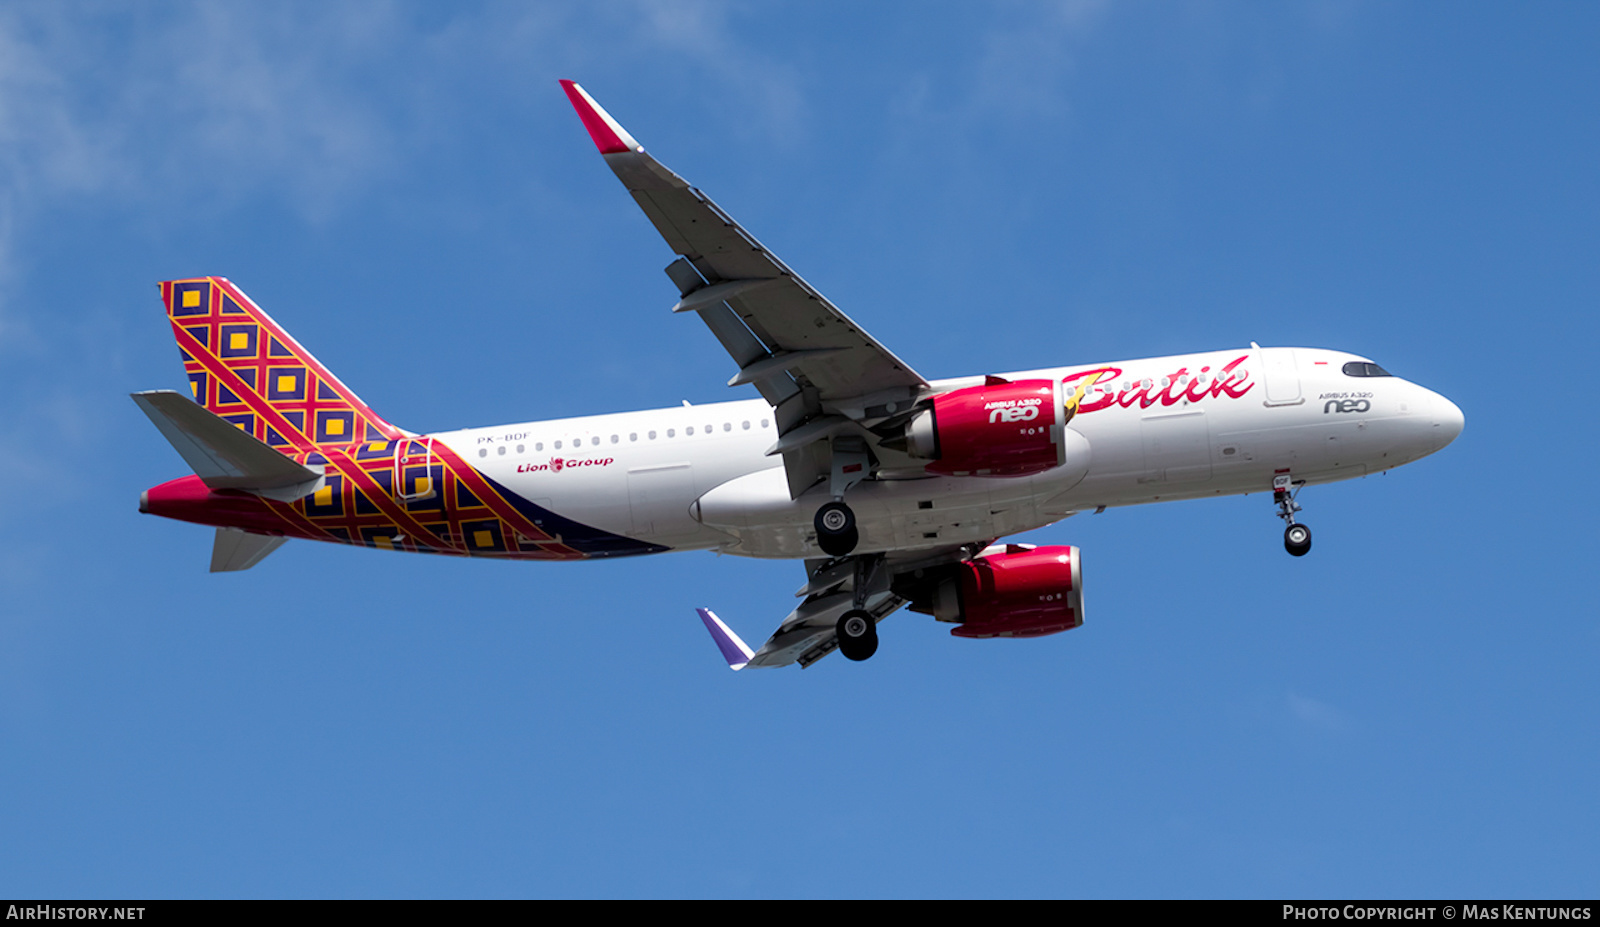
M403 437L226 279L168 280L162 301L195 402L267 445Z

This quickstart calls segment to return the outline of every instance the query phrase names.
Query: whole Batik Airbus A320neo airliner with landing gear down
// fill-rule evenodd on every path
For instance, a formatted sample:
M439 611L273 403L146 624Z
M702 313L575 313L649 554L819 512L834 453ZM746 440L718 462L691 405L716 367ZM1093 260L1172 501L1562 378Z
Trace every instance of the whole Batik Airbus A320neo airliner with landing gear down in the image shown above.
M286 538L576 560L722 551L805 560L800 605L728 664L866 660L906 605L958 637L1083 623L1072 546L1000 544L1074 512L1272 492L1290 554L1301 487L1387 471L1461 432L1443 395L1366 357L1238 347L926 379L562 82L606 165L678 255L674 312L760 399L413 434L389 424L222 277L162 283L192 399L134 402L194 469L144 512L214 525L211 570Z

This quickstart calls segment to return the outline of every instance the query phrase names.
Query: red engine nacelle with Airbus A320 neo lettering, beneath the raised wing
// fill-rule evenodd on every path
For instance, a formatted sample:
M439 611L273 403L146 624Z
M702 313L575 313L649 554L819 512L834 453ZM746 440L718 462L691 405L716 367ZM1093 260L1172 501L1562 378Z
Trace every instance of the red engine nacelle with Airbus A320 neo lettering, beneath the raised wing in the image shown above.
M944 476L1021 477L1066 463L1061 384L992 378L933 397L906 429L906 451Z

